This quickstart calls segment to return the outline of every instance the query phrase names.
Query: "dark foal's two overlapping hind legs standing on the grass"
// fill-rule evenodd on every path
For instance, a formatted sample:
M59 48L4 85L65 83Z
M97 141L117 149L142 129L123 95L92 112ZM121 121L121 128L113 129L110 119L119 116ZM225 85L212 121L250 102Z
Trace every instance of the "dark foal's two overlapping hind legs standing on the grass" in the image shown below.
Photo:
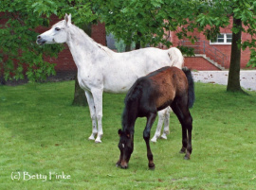
M177 115L182 127L182 147L181 153L186 153L184 159L189 160L192 154L192 115L184 99L175 99L172 109ZM187 150L187 151L186 151Z

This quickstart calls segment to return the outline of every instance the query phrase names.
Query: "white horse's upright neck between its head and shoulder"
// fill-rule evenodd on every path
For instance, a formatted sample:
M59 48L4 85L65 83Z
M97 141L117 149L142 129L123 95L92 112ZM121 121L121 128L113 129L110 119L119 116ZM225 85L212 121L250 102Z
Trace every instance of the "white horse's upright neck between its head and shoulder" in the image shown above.
M106 52L102 50L101 45L94 42L77 26L70 26L66 43L78 69L97 62L96 59L99 57L107 56Z

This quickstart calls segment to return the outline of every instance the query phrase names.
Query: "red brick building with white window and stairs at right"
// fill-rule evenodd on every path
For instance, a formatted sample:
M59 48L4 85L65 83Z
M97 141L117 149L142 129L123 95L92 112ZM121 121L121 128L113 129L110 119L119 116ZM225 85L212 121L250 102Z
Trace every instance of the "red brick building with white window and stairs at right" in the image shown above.
M230 25L225 28L220 28L220 35L216 41L210 42L206 39L202 32L194 32L197 42L190 43L186 40L178 40L175 32L171 32L171 41L174 46L184 45L194 48L194 57L185 57L185 65L196 70L223 70L229 69L231 55L231 40L232 40L232 19L229 20ZM173 37L173 38L172 38ZM250 35L242 33L242 42L250 40ZM247 62L250 58L250 51L247 48L241 53L241 68L247 67Z

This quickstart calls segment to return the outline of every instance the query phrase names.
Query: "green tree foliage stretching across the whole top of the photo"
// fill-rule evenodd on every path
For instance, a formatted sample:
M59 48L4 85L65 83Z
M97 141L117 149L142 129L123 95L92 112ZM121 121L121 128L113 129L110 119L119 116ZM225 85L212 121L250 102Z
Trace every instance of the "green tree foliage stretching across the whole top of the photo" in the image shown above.
M72 14L75 25L100 19L118 40L142 46L171 45L167 32L170 30L176 31L179 39L192 42L196 41L192 35L195 29L211 39L220 32L220 27L229 26L232 16L243 23L243 27L233 26L232 32L242 31L252 37L237 44L239 48L250 48L249 64L256 66L254 0L2 0L0 12L5 12L1 19L8 20L0 26L0 65L6 78L23 78L25 69L27 78L32 80L54 73L54 65L43 58L56 56L62 46L38 46L34 29L49 26L50 15L63 18L65 12Z

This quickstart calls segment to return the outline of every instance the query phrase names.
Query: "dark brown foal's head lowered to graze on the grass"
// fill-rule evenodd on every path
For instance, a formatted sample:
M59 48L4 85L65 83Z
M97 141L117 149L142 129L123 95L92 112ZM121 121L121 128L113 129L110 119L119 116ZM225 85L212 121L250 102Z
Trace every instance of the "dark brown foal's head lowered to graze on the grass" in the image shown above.
M127 168L134 151L134 139L128 130L119 130L119 137L120 157L117 165L121 168Z

